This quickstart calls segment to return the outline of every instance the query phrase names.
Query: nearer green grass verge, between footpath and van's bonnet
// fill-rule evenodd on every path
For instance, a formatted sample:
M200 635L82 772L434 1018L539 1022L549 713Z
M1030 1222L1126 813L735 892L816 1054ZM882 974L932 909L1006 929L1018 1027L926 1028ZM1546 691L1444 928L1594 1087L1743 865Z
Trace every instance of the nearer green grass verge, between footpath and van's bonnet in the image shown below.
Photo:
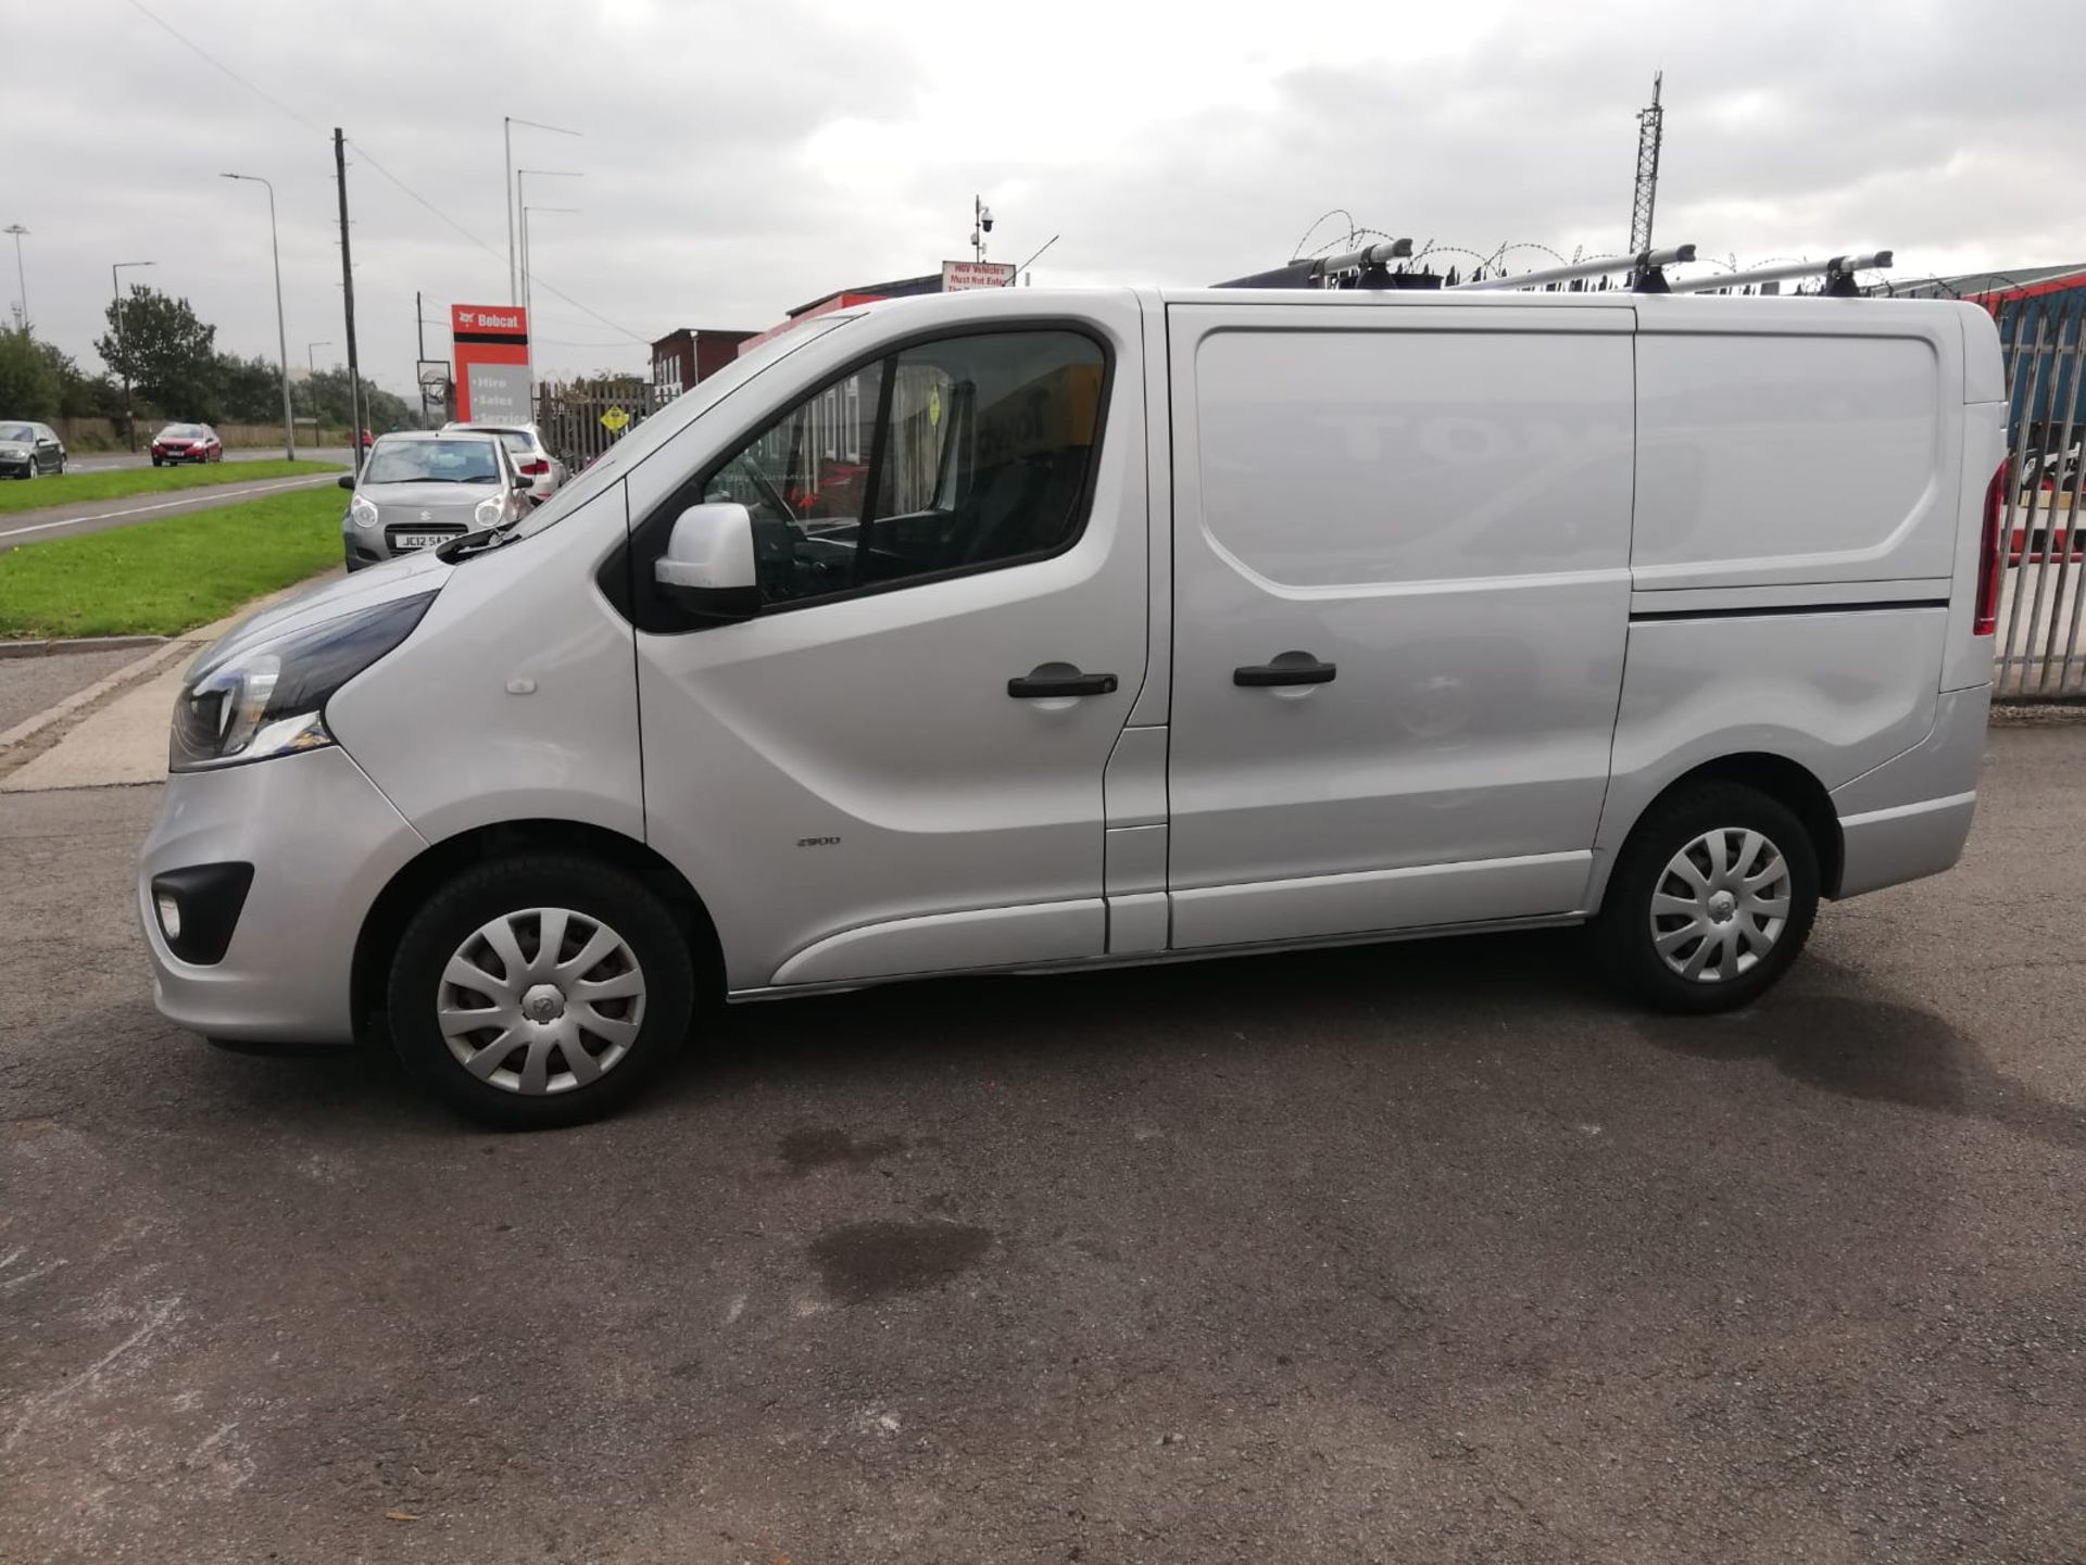
M340 565L336 490L140 521L0 554L0 636L177 636Z

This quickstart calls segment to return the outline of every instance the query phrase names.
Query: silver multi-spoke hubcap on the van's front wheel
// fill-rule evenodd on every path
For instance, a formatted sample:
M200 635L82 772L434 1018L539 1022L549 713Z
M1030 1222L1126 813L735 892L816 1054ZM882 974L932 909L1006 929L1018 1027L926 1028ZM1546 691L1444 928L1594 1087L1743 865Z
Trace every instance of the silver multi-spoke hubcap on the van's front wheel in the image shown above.
M645 1025L645 971L609 925L561 906L480 925L436 1000L457 1063L505 1092L572 1092L615 1069Z

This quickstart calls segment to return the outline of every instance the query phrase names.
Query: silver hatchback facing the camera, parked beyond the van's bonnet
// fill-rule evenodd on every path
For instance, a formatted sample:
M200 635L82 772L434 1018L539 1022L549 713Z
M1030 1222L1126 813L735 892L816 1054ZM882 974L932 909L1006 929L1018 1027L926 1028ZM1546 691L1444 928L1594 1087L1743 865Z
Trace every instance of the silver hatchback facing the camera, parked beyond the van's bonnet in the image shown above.
M528 511L528 475L496 436L392 433L371 448L340 517L348 569L446 544L451 538L507 527Z

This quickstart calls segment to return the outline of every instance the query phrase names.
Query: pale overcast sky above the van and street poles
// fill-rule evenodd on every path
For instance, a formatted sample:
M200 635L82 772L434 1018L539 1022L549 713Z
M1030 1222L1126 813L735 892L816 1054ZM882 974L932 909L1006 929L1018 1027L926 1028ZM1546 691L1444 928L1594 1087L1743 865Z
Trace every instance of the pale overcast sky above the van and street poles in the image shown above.
M413 290L430 356L451 302L507 300L503 115L582 131L515 131L517 165L584 175L530 185L578 208L538 213L532 252L584 306L538 288L540 373L932 271L968 254L972 192L991 258L1062 233L1037 283L1260 271L1331 206L1421 244L1619 250L1654 69L1660 242L1894 246L1900 277L2086 260L2082 0L0 0L0 31L35 40L0 88L0 227L29 229L38 333L83 365L113 260L275 354L267 200L225 169L275 181L292 358L338 363L342 125L363 371L409 392Z

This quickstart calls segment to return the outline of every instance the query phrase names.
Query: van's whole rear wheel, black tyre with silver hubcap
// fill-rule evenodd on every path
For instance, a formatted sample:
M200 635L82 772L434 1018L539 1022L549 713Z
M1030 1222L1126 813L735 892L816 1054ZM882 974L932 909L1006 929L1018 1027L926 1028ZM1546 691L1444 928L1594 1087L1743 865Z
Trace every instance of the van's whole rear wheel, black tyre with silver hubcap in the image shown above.
M1594 938L1610 975L1660 1011L1729 1011L1790 969L1819 906L1802 821L1744 784L1669 794L1629 834Z

